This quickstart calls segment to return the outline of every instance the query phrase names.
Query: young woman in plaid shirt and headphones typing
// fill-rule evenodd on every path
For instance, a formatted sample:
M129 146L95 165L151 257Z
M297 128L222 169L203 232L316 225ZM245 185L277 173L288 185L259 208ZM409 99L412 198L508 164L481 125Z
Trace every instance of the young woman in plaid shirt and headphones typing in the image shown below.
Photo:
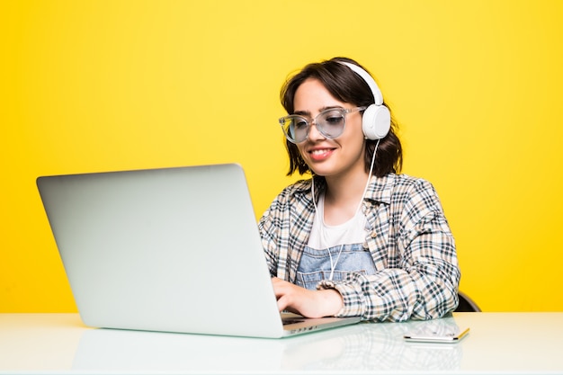
M289 175L259 228L280 310L403 321L458 304L454 239L431 183L399 174L402 148L373 78L348 58L281 90Z

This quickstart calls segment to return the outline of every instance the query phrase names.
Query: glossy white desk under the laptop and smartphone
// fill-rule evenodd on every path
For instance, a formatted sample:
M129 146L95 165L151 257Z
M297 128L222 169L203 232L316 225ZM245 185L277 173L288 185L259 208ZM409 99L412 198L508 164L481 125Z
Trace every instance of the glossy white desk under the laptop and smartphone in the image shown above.
M563 374L563 313L456 313L459 344L406 343L426 322L286 339L85 327L76 314L0 314L0 374Z

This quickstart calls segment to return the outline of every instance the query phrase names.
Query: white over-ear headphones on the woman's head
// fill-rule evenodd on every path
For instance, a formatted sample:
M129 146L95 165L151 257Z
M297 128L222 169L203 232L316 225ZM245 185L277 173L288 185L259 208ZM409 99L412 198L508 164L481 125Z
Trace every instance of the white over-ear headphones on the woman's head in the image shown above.
M381 139L387 136L389 128L391 127L391 113L389 109L383 105L383 95L380 88L375 83L373 77L368 72L358 67L355 64L338 61L338 63L345 65L353 70L358 76L370 86L371 94L373 94L374 104L371 104L364 112L362 117L362 130L365 138L368 139Z

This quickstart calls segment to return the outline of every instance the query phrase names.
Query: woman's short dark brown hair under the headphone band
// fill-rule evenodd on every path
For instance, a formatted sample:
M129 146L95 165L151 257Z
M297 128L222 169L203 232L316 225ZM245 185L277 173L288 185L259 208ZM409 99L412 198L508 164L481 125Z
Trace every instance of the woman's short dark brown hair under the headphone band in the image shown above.
M358 107L369 106L374 103L370 86L353 72L338 61L346 61L359 67L360 64L350 58L331 58L320 63L308 64L281 87L281 105L289 114L294 112L293 99L295 93L303 82L309 78L317 79L326 87L326 90L337 100L344 103L352 103ZM389 108L389 105L383 103ZM389 109L390 112L390 109ZM363 112L362 112L363 113ZM399 173L403 165L403 149L397 136L398 123L391 115L391 128L385 138L380 139L377 156L372 173L382 177L389 173ZM365 142L365 170L370 171L371 158L377 144L377 140L366 139ZM311 172L299 154L298 147L286 139L285 146L290 156L290 170L288 175L295 173L305 174Z

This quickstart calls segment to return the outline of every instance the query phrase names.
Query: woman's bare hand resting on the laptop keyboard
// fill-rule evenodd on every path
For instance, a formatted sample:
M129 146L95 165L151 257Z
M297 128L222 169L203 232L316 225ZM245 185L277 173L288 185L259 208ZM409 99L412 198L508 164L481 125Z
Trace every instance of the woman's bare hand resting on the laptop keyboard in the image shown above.
M287 309L303 317L332 317L344 306L337 290L307 290L277 277L272 283L280 311Z

